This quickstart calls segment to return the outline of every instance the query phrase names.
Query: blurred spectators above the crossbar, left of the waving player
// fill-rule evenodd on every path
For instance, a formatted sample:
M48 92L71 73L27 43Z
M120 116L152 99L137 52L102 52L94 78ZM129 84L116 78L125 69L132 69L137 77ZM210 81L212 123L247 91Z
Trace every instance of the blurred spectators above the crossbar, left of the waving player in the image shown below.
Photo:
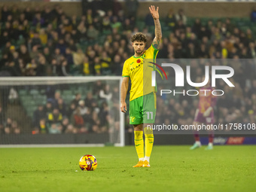
M92 4L79 18L68 17L59 5L33 10L5 5L0 76L120 75L133 51L128 41L135 17L113 3L107 11Z

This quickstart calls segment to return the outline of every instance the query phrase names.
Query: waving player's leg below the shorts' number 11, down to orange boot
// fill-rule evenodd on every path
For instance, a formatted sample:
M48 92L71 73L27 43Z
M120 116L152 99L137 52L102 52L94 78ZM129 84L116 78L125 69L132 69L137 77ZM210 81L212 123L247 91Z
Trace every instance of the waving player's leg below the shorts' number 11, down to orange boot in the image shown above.
M143 123L145 134L145 160L144 167L150 167L149 160L154 144L153 123L157 111L157 99L155 93L149 93L143 99Z

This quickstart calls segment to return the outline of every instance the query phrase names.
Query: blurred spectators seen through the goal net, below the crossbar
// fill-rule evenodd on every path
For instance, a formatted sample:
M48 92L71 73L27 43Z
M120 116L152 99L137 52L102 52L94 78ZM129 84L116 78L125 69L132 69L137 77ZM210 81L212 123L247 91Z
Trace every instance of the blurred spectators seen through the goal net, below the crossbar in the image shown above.
M118 84L118 82L117 82ZM84 96L75 93L71 102L63 99L62 92L71 85L48 86L46 105L38 105L32 114L32 134L44 133L113 133L120 129L119 88L96 81L87 85ZM74 86L74 85L73 85ZM78 85L79 86L79 85ZM40 90L42 87L38 87ZM28 106L26 106L28 107ZM20 133L24 122L17 123L2 113L0 133ZM19 124L19 126L18 126Z

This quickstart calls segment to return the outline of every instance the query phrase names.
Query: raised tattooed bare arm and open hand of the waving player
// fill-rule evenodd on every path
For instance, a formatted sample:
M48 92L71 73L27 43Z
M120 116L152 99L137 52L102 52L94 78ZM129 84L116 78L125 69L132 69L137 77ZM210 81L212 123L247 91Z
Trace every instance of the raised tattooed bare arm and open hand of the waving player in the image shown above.
M159 20L158 7L157 7L157 10L156 10L154 8L154 5L151 5L151 7L149 7L149 11L151 11L151 15L154 19L154 26L155 26L154 33L156 35L152 44L158 50L160 40L162 38L162 29L161 29L160 20Z

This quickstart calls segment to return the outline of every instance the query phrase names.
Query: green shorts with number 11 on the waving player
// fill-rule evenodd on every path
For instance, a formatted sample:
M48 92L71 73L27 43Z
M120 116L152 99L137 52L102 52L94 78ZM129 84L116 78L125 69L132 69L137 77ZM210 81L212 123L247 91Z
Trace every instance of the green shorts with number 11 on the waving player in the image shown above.
M157 111L156 93L149 93L130 101L130 124L154 123Z

